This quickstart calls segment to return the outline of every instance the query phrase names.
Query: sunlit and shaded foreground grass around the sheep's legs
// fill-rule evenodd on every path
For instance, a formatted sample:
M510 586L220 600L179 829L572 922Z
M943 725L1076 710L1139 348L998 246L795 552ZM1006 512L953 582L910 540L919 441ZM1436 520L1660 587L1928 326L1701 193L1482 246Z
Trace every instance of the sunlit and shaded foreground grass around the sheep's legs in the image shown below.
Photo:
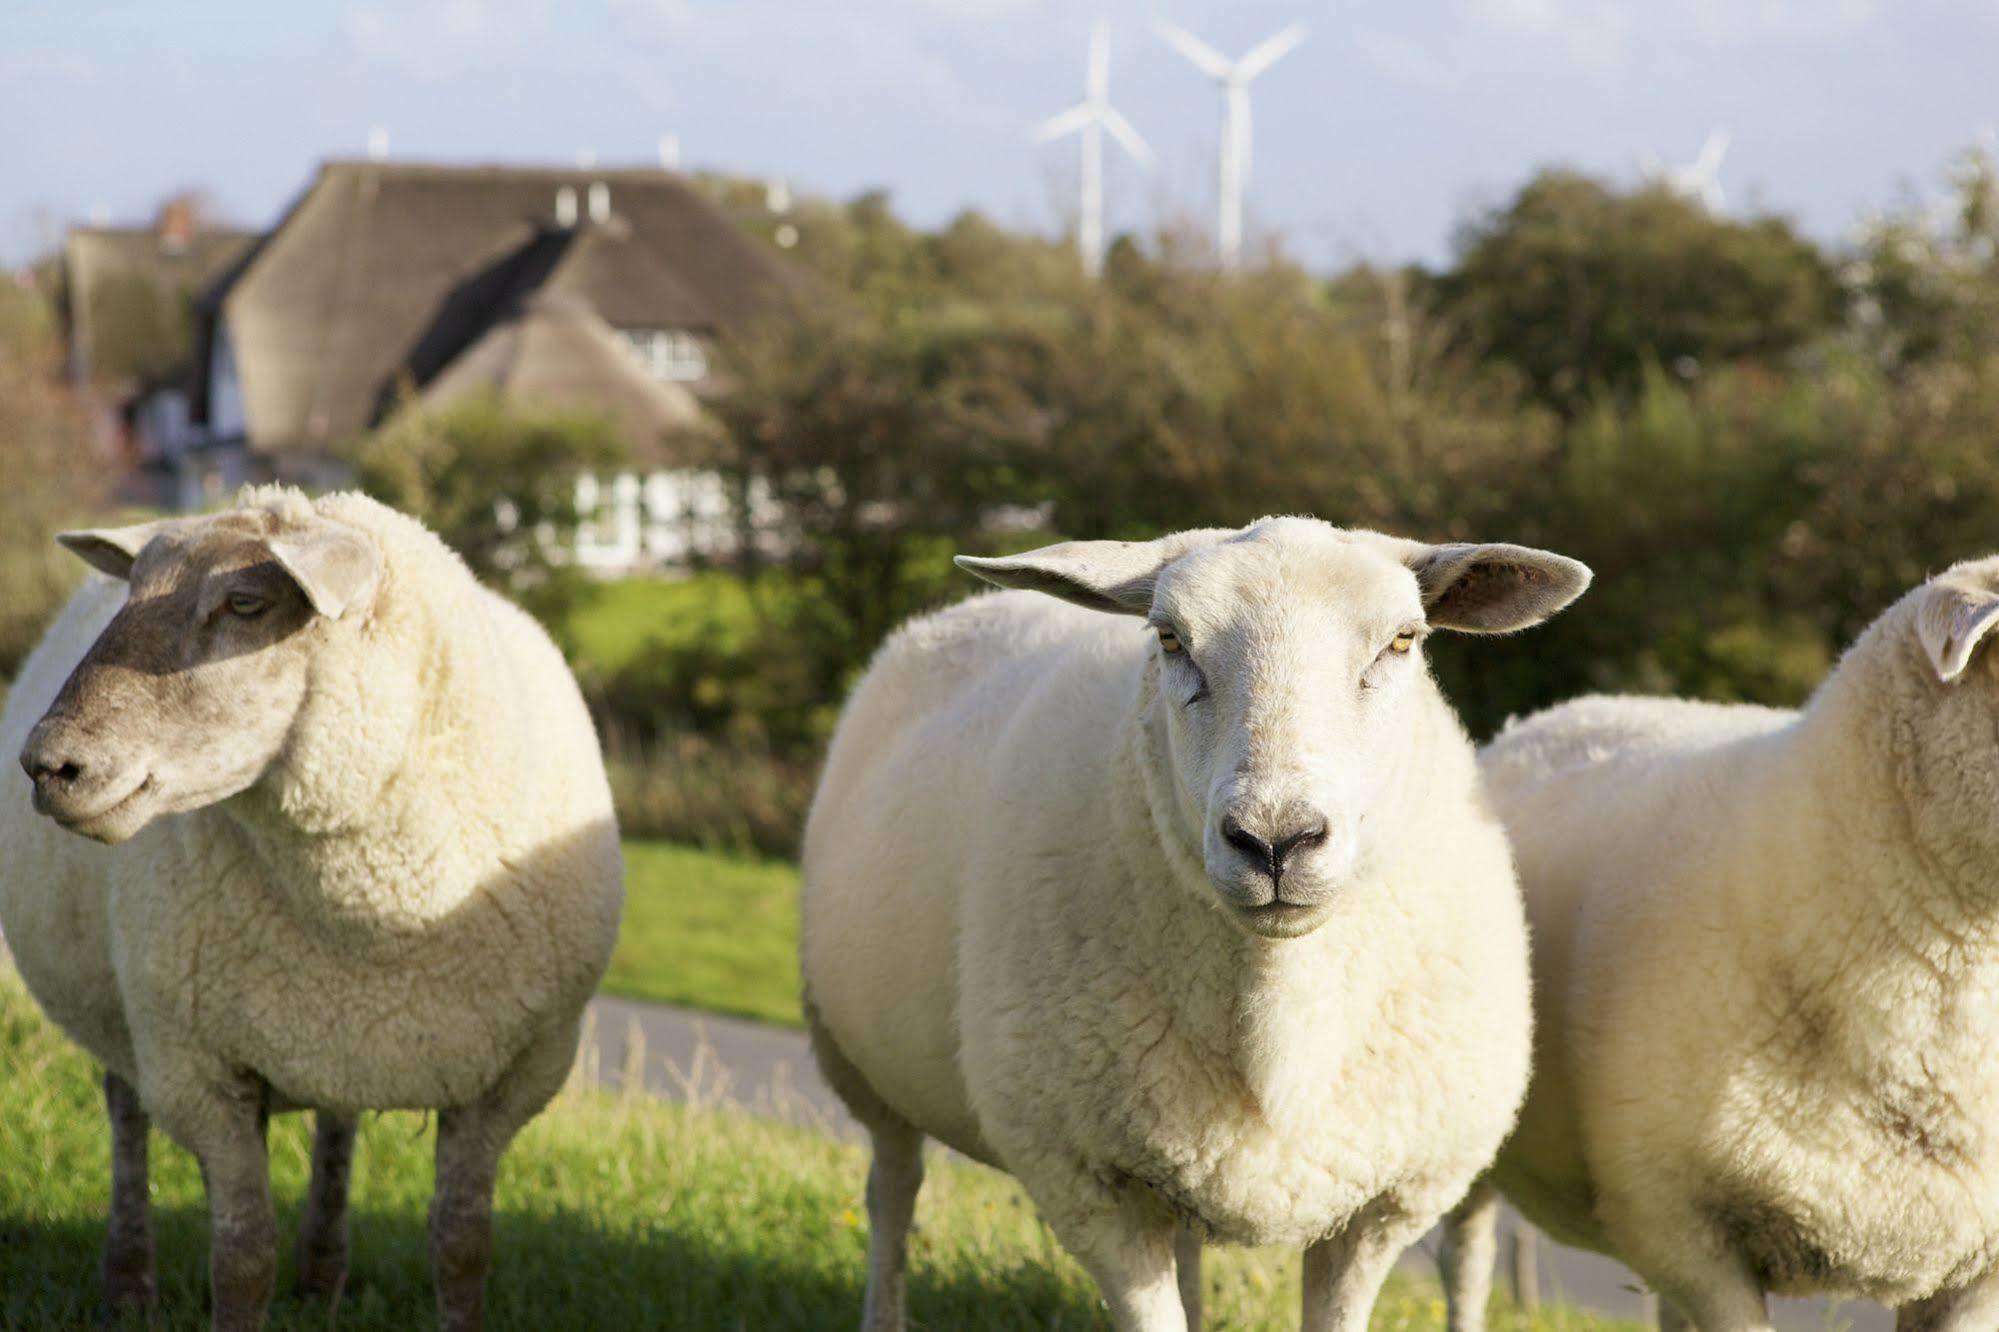
M108 1190L96 1070L0 968L0 1328L90 1326ZM272 1176L290 1282L304 1192L302 1116L272 1126ZM866 1220L860 1148L648 1098L568 1092L506 1158L488 1326L786 1330L860 1318ZM428 1326L428 1122L372 1116L354 1172L354 1252L338 1326ZM156 1328L204 1328L206 1212L194 1162L154 1138L160 1254ZM1097 1296L1019 1188L934 1160L918 1210L914 1328L1103 1328ZM1221 1252L1207 1264L1217 1328L1295 1328L1295 1256ZM1397 1276L1375 1332L1443 1326L1429 1282ZM280 1294L272 1328L326 1328L324 1304ZM1503 1312L1499 1332L1607 1332L1573 1310Z

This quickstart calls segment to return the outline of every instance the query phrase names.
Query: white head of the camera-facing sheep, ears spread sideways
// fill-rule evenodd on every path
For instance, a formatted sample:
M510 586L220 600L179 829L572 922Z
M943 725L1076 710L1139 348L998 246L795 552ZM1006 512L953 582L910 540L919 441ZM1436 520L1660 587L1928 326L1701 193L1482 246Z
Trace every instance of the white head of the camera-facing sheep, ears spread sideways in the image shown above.
M988 582L1147 624L1147 728L1165 806L1249 932L1331 914L1369 854L1369 808L1423 724L1423 638L1507 632L1589 586L1525 546L1425 546L1311 518L1155 542L960 558Z

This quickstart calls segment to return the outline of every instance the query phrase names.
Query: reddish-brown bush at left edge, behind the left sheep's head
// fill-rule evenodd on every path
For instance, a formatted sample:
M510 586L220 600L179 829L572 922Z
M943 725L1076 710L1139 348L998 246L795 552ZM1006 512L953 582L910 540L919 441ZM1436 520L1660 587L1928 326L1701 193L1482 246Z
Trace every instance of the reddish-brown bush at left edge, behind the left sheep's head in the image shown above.
M56 532L86 526L104 504L102 470L82 406L60 380L48 304L0 284L0 680L20 668L82 578Z

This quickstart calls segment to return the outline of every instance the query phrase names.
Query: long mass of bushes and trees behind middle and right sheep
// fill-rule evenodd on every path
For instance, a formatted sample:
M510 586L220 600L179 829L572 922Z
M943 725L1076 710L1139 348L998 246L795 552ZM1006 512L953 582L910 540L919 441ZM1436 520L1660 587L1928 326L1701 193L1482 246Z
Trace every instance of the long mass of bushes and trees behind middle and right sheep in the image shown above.
M1999 222L1967 162L1957 230L1895 288L1925 300L1841 288L1851 264L1783 220L1563 172L1443 272L1333 280L1281 256L1223 276L1161 236L1091 284L976 218L926 236L880 198L828 210L802 248L840 256L848 300L732 348L718 404L798 522L796 596L748 644L658 658L646 694L690 670L736 702L684 724L772 734L972 588L954 550L1313 512L1597 570L1543 630L1437 644L1475 734L1585 690L1795 704L1999 530Z

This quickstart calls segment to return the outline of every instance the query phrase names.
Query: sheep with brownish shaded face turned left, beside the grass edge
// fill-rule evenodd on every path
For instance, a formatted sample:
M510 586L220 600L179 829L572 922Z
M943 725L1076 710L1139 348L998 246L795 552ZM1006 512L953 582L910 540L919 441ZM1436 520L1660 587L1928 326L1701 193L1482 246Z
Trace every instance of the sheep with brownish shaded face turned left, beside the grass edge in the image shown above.
M156 1302L148 1122L202 1166L214 1326L254 1328L266 1116L316 1112L298 1282L338 1298L356 1116L424 1108L440 1324L480 1326L500 1154L568 1074L624 900L562 656L360 494L60 540L108 578L0 718L0 928L106 1070L106 1310Z

